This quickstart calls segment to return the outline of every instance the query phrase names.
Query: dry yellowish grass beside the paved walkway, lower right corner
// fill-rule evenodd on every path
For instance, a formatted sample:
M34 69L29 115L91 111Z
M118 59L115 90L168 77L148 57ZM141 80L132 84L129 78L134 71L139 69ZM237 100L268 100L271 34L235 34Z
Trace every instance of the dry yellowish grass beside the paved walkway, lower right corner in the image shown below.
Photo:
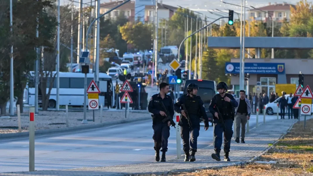
M169 173L175 176L313 176L313 119L295 124L283 139L262 155L259 161L276 161L275 164L250 163L219 169ZM272 144L269 144L272 145Z

